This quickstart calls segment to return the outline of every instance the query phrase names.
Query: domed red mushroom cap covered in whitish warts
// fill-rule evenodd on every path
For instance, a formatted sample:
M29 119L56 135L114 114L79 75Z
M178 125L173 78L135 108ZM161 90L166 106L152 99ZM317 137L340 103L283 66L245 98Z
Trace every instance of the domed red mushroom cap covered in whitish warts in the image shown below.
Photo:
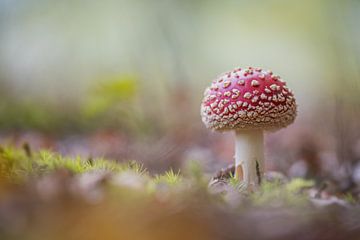
M237 68L205 90L201 117L213 130L274 130L295 120L296 102L286 83L271 71Z

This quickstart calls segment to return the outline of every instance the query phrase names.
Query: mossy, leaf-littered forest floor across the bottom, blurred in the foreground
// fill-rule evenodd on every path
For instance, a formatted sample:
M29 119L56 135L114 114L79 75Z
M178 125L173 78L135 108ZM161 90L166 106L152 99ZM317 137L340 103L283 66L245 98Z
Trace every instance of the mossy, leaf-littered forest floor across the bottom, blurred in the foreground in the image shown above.
M359 201L267 173L248 193L196 162L151 174L134 161L0 148L0 239L359 239Z

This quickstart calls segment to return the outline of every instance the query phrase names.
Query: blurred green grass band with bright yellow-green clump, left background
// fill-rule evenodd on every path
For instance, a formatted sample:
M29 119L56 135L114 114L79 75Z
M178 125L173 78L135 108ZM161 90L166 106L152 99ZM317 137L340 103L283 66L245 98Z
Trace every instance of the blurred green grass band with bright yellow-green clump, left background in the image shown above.
M99 128L139 133L147 121L137 107L137 78L130 75L103 77L86 98L74 103L0 96L2 131L37 130L61 134Z

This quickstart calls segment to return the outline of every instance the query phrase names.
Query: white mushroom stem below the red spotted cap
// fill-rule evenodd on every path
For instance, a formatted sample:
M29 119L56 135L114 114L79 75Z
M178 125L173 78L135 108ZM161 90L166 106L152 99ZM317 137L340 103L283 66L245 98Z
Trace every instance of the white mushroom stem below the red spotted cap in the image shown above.
M235 135L235 177L256 188L264 173L264 132L238 130Z

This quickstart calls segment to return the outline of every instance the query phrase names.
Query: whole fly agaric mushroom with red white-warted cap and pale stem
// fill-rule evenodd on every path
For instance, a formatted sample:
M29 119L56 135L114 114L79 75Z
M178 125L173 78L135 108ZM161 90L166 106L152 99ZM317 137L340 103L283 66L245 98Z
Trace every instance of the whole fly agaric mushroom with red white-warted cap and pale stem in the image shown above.
M264 131L291 124L296 102L272 71L237 68L220 75L205 90L201 117L207 128L235 131L235 177L253 188L264 173Z

